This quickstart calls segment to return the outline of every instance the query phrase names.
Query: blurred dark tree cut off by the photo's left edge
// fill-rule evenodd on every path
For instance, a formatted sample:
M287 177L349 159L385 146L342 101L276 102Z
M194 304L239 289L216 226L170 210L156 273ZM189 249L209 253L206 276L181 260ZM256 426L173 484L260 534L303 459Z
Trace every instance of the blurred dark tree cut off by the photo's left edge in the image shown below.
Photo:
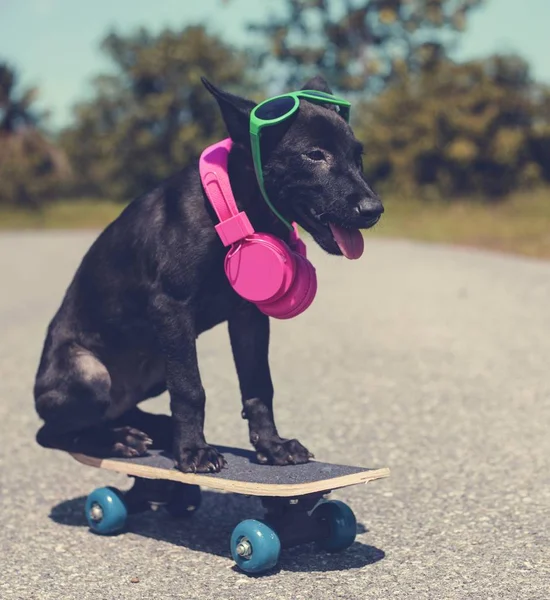
M36 208L69 177L64 153L41 128L33 109L38 91L17 93L17 73L0 63L0 204Z

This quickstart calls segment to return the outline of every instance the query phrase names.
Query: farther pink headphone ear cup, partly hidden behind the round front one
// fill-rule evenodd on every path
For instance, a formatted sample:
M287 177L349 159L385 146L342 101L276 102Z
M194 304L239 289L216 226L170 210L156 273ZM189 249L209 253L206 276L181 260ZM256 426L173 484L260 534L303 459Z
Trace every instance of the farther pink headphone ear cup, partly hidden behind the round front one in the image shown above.
M258 303L264 314L277 319L291 319L303 313L317 293L317 275L313 265L300 254L294 253L296 275L288 292L278 300Z

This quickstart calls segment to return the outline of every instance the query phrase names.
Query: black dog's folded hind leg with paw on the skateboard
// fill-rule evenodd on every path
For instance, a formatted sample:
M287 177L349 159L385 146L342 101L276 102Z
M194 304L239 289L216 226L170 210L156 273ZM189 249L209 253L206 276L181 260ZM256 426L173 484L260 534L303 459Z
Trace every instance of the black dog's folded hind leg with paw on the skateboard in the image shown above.
M111 378L97 357L75 346L50 349L35 383L36 411L44 420L37 442L95 456L144 454L147 434L106 421L112 403Z

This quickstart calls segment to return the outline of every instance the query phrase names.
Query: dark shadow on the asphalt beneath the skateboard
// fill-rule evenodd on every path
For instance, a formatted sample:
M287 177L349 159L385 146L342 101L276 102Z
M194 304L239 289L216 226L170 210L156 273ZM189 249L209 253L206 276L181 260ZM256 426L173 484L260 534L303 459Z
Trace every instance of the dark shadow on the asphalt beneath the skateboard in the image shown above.
M60 525L87 528L85 502L84 496L61 502L52 508L50 518ZM131 515L126 532L230 558L229 539L233 527L243 519L261 518L262 514L256 498L203 490L202 505L191 518L174 519L159 508ZM363 524L357 524L358 534L367 531ZM90 535L95 534L90 532ZM365 567L384 557L382 550L358 541L341 554L329 554L314 544L303 544L283 550L277 570L344 571Z

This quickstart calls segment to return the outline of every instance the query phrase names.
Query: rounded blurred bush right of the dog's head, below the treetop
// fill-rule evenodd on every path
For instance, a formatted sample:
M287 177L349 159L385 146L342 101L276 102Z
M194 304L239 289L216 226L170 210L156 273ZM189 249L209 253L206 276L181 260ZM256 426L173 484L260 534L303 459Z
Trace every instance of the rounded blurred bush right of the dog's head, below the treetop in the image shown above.
M443 197L496 197L539 183L549 121L535 92L548 98L515 56L406 74L356 110L367 169L393 188L432 186Z

